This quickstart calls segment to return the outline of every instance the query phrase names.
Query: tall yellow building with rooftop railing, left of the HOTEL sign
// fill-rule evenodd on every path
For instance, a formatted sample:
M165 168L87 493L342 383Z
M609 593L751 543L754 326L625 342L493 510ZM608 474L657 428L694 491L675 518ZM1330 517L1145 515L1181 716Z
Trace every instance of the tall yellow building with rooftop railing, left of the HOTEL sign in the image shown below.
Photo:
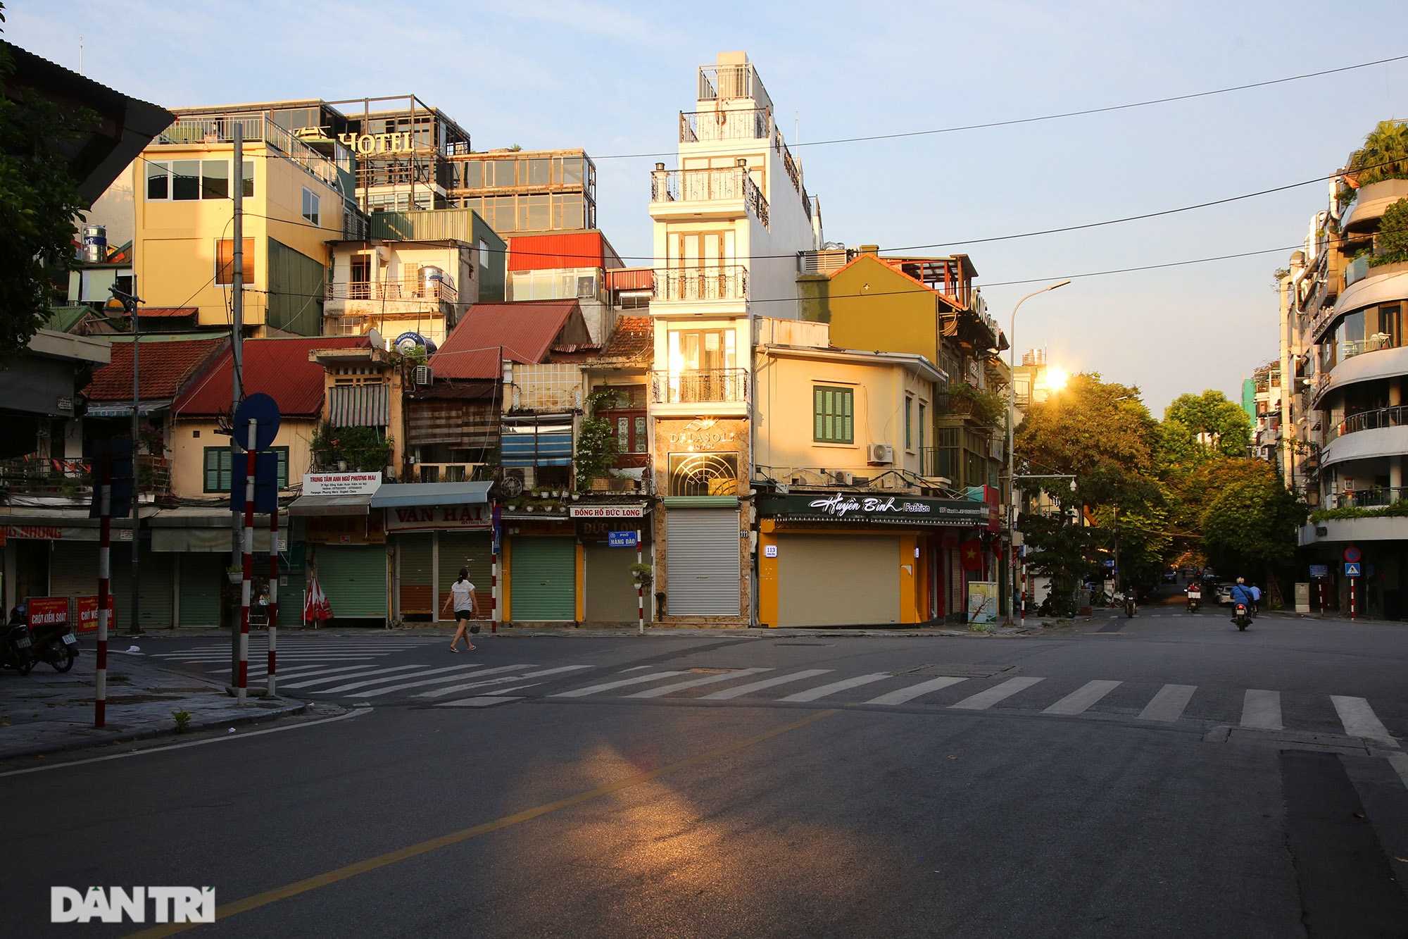
M234 131L242 127L242 171ZM148 309L193 309L230 329L234 185L244 186L246 333L318 336L328 241L365 235L351 155L324 155L268 116L183 118L134 164L137 292Z

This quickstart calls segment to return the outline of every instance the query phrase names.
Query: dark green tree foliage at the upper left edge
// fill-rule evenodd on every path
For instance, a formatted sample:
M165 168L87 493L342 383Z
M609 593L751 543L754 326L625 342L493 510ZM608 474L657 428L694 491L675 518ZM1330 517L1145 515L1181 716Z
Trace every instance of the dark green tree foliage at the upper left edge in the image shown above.
M55 275L76 264L73 219L87 206L62 147L96 120L14 85L13 73L0 44L0 362L24 352L48 316Z

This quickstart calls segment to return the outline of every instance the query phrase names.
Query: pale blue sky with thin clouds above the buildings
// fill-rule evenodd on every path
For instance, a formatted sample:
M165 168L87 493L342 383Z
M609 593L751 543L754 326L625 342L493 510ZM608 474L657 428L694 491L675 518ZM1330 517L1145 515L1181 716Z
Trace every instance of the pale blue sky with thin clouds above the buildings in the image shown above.
M583 147L597 223L649 264L649 169L694 110L696 66L746 51L819 197L825 238L966 252L1018 355L1138 385L1155 416L1184 392L1233 400L1278 355L1273 272L1328 183L1098 223L1333 173L1380 120L1408 117L1408 59L1102 114L817 144L1108 107L1408 55L1408 7L1062 0L732 3L591 0L6 0L6 38L166 107L414 93L476 149ZM796 133L794 133L796 131ZM800 145L798 145L800 144ZM673 164L672 164L673 165ZM1156 271L1101 271L1250 257Z

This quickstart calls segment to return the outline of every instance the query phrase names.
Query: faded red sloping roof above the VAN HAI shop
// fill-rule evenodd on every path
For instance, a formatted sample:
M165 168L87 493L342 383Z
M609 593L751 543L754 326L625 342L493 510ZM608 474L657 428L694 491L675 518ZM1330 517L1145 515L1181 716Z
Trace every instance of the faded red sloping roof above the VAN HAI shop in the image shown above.
M500 354L515 362L545 362L555 343L590 341L576 300L476 303L429 365L435 378L498 378Z

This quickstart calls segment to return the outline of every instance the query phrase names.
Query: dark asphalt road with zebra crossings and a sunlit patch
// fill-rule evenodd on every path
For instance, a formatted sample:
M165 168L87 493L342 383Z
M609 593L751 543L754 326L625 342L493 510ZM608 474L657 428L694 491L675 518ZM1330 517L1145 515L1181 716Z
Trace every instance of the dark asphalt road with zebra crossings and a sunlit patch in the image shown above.
M321 722L0 767L7 932L189 884L231 936L1408 935L1401 626L411 639L280 642Z

